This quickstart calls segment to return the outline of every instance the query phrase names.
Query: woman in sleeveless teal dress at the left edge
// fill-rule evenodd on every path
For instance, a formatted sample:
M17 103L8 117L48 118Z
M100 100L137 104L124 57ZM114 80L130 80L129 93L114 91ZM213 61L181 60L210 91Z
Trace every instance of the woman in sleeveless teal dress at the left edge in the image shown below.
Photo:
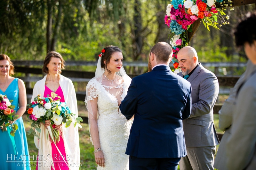
M22 115L26 111L27 95L24 82L18 78L13 78L14 66L7 55L0 55L0 94L6 95L9 100L13 100L18 119L14 122L18 125L15 136L8 131L0 131L0 169L10 170L30 170L29 153L26 131L22 120ZM18 153L18 154L17 154ZM8 155L7 155L8 154ZM12 154L12 155L11 155ZM16 162L15 162L16 161Z

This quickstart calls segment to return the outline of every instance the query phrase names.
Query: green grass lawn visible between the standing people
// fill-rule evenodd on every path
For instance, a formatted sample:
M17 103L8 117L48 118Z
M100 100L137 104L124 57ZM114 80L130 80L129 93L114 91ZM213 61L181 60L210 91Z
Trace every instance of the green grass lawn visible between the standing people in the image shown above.
M81 107L81 109L84 109L84 108ZM82 111L80 111L80 112L82 112ZM79 113L79 115L84 116L84 114L80 114L80 113ZM28 131L30 129L30 123L27 121L28 119L27 119L26 115L23 115L22 117L23 117L26 131ZM223 133L219 129L219 115L214 114L214 124L215 124L216 131ZM95 163L94 154L93 154L94 147L89 140L88 124L82 123L81 125L82 125L82 128L79 128L80 157L81 157L81 164L82 164L82 166L80 167L80 170L97 169L97 164ZM29 154L37 155L38 150L34 144L34 136L28 135L28 133L27 133L27 138L28 138ZM218 146L217 146L217 148L218 148ZM36 169L36 166L31 166L31 170L35 170L35 169ZM178 170L179 169L180 169L180 167L178 167Z

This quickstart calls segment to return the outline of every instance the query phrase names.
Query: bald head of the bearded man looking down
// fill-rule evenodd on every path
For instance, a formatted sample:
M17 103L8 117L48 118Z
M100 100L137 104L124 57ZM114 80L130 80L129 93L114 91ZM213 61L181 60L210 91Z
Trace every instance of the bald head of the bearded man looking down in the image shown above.
M198 64L196 50L190 46L181 48L177 54L177 59L184 76L188 75Z

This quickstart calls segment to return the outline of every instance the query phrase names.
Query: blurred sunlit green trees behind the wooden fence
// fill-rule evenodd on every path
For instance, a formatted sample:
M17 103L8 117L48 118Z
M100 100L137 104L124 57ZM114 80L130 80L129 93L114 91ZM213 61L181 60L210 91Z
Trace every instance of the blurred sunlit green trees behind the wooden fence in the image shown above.
M150 48L169 42L166 0L1 0L0 53L17 60L42 60L48 51L65 60L96 61L101 49L116 45L126 61L147 61ZM233 28L256 5L225 11L230 24L220 30L201 24L192 39L201 62L245 62L234 45Z

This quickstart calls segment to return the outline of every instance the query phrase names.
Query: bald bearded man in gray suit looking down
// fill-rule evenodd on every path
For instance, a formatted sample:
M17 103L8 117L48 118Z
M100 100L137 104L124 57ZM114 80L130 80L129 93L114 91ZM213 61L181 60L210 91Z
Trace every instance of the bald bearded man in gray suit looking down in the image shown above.
M196 50L186 46L178 52L181 77L192 87L192 110L183 120L187 156L180 160L180 170L214 170L216 145L220 143L213 124L213 106L219 94L216 76L198 62Z

